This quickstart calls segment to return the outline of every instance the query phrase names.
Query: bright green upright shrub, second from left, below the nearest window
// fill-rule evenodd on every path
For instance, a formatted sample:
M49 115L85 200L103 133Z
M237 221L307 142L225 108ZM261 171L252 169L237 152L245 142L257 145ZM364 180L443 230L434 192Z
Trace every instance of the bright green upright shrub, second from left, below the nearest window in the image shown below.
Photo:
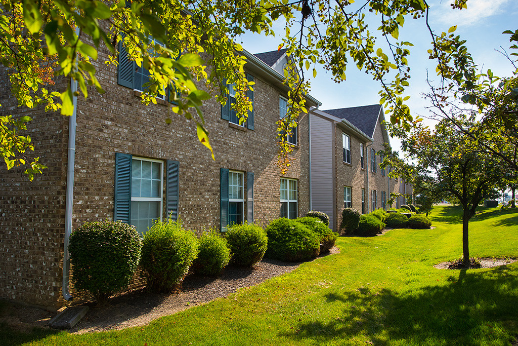
M189 272L198 255L198 239L180 221L156 220L144 234L142 269L152 292L171 292Z

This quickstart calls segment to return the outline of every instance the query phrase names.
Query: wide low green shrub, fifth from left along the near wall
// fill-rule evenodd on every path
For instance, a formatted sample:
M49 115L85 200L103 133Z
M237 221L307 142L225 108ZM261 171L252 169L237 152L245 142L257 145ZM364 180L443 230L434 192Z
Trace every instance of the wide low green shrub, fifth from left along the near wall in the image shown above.
M266 256L284 261L301 261L320 253L319 237L307 226L280 218L266 227L268 250Z

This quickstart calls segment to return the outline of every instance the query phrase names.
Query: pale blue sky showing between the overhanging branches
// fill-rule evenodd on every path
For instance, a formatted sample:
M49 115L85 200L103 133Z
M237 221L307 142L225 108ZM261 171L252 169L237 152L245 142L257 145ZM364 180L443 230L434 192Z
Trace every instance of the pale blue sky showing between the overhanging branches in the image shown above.
M429 23L436 34L448 32L457 25L455 33L466 39L466 46L473 60L486 71L491 68L496 76L509 76L512 71L511 63L495 49L503 47L509 52L509 36L502 35L505 30L518 29L518 1L516 0L468 0L467 9L453 10L450 0L428 0L430 5ZM363 4L363 0L357 0ZM373 18L376 19L376 18ZM378 19L379 20L379 19ZM379 23L372 21L371 31ZM264 37L247 34L242 36L242 46L251 53L260 53L277 49L284 33L283 23L275 23L276 37ZM412 114L426 117L427 102L422 93L428 91L427 73L431 80L438 79L435 73L436 64L428 60L427 50L430 48L430 34L424 18L406 19L405 25L399 32L399 39L410 41L411 47L409 65L411 67L410 87L405 96L410 96L407 104ZM379 104L378 91L380 84L364 72L358 71L354 64L348 66L347 80L337 84L330 73L322 67L317 68L316 78L311 78L310 94L320 102L320 109L334 109ZM311 75L308 73L306 75ZM312 77L312 76L310 76ZM426 120L427 121L427 120ZM391 145L397 149L399 141L391 139Z

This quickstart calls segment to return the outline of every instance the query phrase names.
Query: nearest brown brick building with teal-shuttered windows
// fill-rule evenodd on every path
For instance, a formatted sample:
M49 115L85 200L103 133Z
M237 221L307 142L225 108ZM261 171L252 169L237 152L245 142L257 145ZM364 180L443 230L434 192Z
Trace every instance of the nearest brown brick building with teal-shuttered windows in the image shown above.
M23 110L34 119L35 155L48 169L28 182L21 170L0 168L0 298L54 310L64 296L80 297L73 287L67 290L64 250L67 234L85 222L121 219L142 232L152 219L170 215L201 232L244 220L264 225L309 210L309 116L299 117L290 139L295 160L281 175L276 121L288 89L269 63L243 54L255 82L248 121L241 126L214 98L202 106L215 161L199 143L195 124L172 113L167 100L140 103L149 77L124 60L123 51L116 67L102 63L107 51L99 49L97 78L106 92L75 100L73 117ZM6 76L2 82L7 85ZM55 89L69 82L58 79ZM22 113L8 90L2 113ZM309 95L307 103L320 105Z

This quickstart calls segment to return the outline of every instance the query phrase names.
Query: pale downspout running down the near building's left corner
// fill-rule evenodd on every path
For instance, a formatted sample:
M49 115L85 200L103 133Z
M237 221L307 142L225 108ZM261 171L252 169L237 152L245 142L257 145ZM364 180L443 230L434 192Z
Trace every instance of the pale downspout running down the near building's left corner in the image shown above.
M76 28L79 37L79 27ZM65 198L65 240L63 249L63 298L69 301L72 296L69 292L70 285L70 254L68 253L68 240L72 232L72 212L74 204L74 165L76 163L76 125L77 125L77 81L70 77L70 89L72 90L72 102L74 111L68 121L68 160L66 176Z

